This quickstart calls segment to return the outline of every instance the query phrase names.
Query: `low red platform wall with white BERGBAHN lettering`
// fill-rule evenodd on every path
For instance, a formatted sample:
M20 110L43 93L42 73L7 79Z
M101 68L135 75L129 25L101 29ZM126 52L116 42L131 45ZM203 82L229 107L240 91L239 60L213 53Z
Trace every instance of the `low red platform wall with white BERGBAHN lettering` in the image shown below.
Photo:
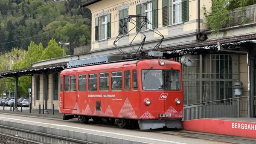
M256 118L204 118L182 121L183 130L256 138Z

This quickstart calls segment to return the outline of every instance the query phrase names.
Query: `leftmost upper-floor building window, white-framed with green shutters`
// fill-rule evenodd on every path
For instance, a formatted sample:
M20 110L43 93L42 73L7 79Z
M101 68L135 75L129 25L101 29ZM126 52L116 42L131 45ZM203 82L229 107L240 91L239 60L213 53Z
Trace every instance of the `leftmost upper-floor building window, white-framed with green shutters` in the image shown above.
M111 37L111 14L95 18L95 41Z

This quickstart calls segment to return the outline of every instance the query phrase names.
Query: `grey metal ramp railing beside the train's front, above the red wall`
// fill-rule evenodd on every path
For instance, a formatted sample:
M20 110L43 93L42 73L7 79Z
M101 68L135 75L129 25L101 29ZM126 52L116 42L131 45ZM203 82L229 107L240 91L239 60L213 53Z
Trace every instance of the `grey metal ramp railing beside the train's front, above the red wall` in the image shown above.
M184 106L183 121L200 118L223 118L247 116L247 100L228 98ZM238 100L239 99L239 100ZM237 101L238 100L238 101Z

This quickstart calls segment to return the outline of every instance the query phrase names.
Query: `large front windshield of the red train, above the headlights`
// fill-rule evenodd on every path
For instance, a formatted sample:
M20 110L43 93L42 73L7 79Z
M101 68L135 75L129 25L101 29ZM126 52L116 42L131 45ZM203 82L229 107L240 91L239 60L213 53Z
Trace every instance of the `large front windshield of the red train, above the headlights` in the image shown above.
M143 69L142 85L144 90L180 90L180 71Z

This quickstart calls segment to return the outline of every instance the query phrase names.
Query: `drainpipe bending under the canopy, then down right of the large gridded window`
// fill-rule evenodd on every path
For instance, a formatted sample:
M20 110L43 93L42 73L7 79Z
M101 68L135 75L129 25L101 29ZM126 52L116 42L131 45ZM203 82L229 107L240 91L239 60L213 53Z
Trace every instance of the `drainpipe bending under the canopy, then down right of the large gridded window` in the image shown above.
M217 43L218 44L218 51L223 51L223 52L236 52L238 54L246 54L247 56L247 83L248 83L248 92L247 92L247 103L248 103L248 111L247 111L247 115L248 118L250 118L250 64L249 64L249 52L239 52L239 51L233 51L233 50L228 50L228 49L221 49L221 43Z

